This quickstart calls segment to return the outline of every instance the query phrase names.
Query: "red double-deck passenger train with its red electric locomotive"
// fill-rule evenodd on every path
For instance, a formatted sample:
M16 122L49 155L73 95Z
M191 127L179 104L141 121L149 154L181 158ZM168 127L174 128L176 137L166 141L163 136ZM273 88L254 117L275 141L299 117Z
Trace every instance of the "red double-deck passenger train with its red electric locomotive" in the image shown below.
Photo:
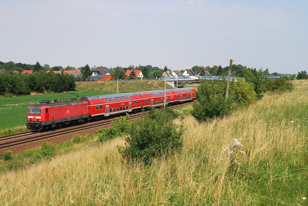
M166 105L196 98L193 87L166 90ZM34 131L102 119L109 115L164 105L164 90L81 97L79 101L43 100L28 107L26 126Z

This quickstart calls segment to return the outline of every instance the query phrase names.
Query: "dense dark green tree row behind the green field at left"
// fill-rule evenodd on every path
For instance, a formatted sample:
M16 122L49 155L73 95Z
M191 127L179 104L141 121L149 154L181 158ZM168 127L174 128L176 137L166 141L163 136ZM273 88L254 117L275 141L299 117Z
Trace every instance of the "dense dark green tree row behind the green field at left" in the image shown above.
M0 95L29 95L34 92L63 92L75 90L73 75L60 75L54 72L37 71L32 74L14 72L0 73Z

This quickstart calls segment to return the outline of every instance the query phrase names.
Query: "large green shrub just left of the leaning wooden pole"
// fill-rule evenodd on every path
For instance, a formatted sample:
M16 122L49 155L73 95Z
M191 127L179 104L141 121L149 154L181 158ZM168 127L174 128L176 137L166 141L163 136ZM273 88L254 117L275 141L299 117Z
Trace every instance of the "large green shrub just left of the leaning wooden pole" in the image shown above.
M197 91L197 103L193 103L191 114L198 121L213 119L214 117L229 114L234 106L234 96L230 92L227 101L225 80L200 80ZM230 82L230 87L233 87Z

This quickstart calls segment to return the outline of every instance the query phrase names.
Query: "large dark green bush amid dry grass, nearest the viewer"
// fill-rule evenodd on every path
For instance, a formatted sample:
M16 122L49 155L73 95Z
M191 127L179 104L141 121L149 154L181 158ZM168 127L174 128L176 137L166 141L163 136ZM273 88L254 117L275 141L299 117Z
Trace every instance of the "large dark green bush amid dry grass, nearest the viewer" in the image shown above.
M121 156L128 162L150 164L155 157L174 154L180 151L184 132L174 123L177 115L170 110L152 109L139 120L133 121L127 128L125 147L118 147Z

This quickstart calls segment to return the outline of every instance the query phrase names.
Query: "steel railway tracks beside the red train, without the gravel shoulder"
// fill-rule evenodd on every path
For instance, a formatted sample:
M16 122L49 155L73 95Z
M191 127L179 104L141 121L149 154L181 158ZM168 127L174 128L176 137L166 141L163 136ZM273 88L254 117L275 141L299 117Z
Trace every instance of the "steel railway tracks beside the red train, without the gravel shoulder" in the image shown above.
M170 106L170 108L183 106L183 105L186 105L186 104L189 104L189 103L192 103L192 102L172 105L172 106ZM129 120L138 119L142 114L143 113L141 113L141 112L136 113L136 114L132 114L132 115L130 115ZM72 134L72 133L76 133L76 132L79 132L79 131L85 131L85 130L93 129L95 127L107 126L107 125L111 124L112 120L114 120L114 118L102 120L103 122L99 121L99 122L94 122L94 123L93 122L87 123L87 124L84 124L84 125L80 125L80 127L75 127L75 128L67 127L65 130L61 130L61 131L55 130L54 132L51 132L51 133L50 133L50 131L43 132L43 133L23 132L23 133L19 133L19 134L15 134L15 135L2 136L2 137L0 137L0 150L6 149L6 148L9 148L9 147L18 146L18 145L23 145L23 144L26 144L26 143L36 142L36 141L43 140L43 139L49 139L49 138L52 138L52 137ZM37 134L40 134L40 135L37 135ZM33 135L35 135L35 136L33 137ZM5 142L1 143L2 141L5 141Z

